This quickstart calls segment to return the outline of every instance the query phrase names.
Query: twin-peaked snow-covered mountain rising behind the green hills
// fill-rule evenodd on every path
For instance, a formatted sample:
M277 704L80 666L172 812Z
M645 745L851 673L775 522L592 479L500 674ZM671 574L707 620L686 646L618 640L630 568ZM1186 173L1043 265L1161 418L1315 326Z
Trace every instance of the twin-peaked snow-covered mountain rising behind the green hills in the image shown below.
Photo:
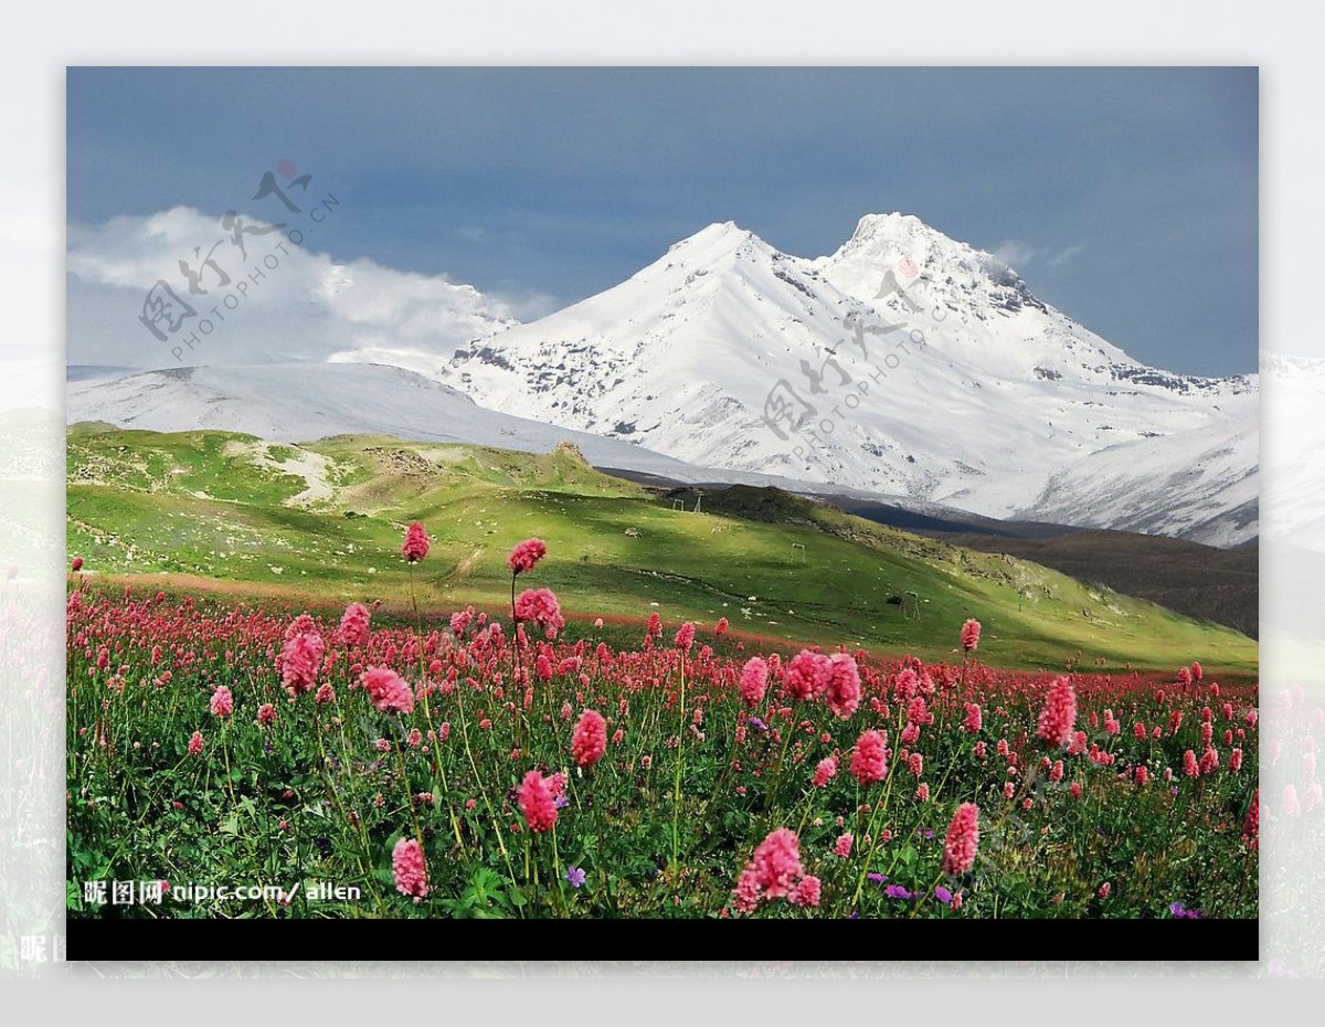
M688 464L1216 545L1257 533L1256 375L1141 364L896 213L815 260L713 224L419 370Z

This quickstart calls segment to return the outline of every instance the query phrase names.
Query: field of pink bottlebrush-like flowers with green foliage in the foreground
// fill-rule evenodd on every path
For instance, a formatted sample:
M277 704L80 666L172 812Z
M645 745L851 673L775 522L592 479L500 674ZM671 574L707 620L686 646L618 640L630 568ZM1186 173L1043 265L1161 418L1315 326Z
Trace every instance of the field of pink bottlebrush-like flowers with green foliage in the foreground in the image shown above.
M428 550L411 526L400 558ZM152 894L121 916L1257 914L1255 685L995 669L975 620L945 663L604 624L546 551L511 550L502 616L74 568L70 916L110 908L87 880ZM171 901L197 883L280 888Z

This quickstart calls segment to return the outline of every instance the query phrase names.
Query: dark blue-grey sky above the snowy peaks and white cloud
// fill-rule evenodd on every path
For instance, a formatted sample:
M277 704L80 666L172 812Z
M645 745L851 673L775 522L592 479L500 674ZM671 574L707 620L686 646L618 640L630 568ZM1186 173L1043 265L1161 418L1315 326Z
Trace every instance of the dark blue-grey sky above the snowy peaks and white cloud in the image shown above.
M1256 69L69 69L68 219L220 216L278 159L337 260L525 317L710 221L806 257L902 211L1134 358L1257 362Z

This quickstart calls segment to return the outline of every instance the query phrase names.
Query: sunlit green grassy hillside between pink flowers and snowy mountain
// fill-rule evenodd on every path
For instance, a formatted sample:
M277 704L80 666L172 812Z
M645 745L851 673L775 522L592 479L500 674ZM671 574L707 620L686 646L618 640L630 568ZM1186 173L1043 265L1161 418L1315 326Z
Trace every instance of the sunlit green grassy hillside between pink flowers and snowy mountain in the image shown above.
M1255 675L1256 645L1215 624L1006 555L909 535L771 489L702 497L604 476L574 448L543 456L343 436L305 447L227 432L69 432L69 551L89 571L250 596L408 603L400 542L433 539L415 584L432 611L509 602L510 547L549 557L529 580L570 614L712 624L796 643L930 659L984 625L1008 667L1173 669L1200 659ZM685 509L673 509L684 506Z

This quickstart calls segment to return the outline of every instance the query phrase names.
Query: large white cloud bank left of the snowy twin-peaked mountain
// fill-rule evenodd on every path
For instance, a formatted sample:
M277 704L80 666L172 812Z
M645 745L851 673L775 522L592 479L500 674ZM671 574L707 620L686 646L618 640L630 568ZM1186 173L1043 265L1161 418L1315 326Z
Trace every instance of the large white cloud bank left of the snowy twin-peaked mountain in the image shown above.
M333 217L334 212L325 215L326 221ZM264 225L246 215L242 220L253 228ZM318 231L327 228L297 216L289 228L302 228L302 245L282 232L248 235L245 258L219 216L189 207L70 225L69 363L170 367L325 360L359 350L448 356L457 346L513 323L517 310L546 313L551 302L541 296L484 296L445 276L399 272L368 260L338 264L314 249ZM208 254L213 266L204 265ZM189 290L182 260L199 276L197 288L204 292ZM193 311L175 331L168 321L158 322L164 341L140 321L148 290L159 281ZM211 322L205 333L204 321ZM182 345L191 337L196 338L192 350Z

